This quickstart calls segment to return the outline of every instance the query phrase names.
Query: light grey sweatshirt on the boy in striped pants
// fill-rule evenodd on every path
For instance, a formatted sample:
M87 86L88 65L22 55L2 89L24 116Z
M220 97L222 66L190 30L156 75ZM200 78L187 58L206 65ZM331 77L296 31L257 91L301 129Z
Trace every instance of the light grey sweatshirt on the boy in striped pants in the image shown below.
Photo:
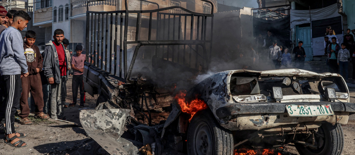
M21 46L23 44L20 31L9 27L0 35L0 74L17 75L27 73L26 57Z

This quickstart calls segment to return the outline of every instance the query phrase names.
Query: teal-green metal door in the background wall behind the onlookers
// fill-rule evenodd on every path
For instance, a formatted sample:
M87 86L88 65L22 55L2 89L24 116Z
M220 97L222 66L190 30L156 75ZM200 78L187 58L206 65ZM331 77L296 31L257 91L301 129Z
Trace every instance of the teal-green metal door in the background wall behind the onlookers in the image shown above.
M299 41L303 41L302 47L305 49L306 58L305 61L312 61L313 51L312 51L312 39L311 39L311 27L298 27L296 26L296 40L298 46Z

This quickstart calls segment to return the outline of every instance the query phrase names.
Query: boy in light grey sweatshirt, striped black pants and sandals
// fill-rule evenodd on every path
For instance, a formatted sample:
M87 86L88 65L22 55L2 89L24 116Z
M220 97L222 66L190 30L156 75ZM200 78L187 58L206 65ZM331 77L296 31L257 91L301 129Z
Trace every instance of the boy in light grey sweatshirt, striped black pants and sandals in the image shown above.
M20 10L13 15L13 22L9 28L0 35L0 94L5 98L0 110L5 115L0 115L0 121L5 118L6 138L4 143L16 147L26 147L27 144L18 139L27 135L15 131L15 112L19 108L21 96L21 77L28 76L26 57L21 46L22 36L18 30L27 27L29 15Z

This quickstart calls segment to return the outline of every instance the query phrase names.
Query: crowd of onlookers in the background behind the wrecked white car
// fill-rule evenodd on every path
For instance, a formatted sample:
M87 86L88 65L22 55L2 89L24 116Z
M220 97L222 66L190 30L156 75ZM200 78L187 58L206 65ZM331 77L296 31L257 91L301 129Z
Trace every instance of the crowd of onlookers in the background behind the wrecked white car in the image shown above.
M326 64L329 72L340 73L345 80L348 79L349 62L355 66L355 42L353 34L355 30L346 30L343 43L339 45L337 36L331 26L326 28L324 35L324 55L327 56ZM263 36L259 34L253 45L246 45L244 49L236 45L237 63L242 69L258 69L261 64L270 62L272 68L298 68L304 69L306 52L302 47L303 41L290 51L289 48L278 45L278 39L271 31ZM267 59L265 57L267 56ZM263 59L261 59L263 58ZM270 69L270 68L269 68ZM353 79L355 79L355 67L353 67Z

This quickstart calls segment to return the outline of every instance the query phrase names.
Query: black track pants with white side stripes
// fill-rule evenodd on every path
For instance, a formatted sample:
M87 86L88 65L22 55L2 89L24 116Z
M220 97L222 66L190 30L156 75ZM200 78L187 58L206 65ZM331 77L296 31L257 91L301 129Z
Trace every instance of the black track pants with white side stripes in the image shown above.
M1 75L0 87L0 95L2 96L0 98L3 98L0 102L0 121L6 123L6 134L16 133L15 113L17 109L20 109L21 75Z

